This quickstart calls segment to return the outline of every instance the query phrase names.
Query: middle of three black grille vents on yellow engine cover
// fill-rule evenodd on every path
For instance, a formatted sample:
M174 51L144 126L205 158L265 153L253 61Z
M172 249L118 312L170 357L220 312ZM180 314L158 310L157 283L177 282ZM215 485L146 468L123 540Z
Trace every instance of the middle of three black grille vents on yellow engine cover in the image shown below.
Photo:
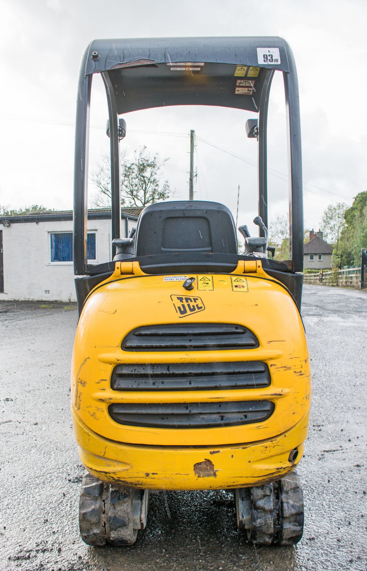
M156 363L116 365L111 388L115 391L203 391L269 387L267 364Z

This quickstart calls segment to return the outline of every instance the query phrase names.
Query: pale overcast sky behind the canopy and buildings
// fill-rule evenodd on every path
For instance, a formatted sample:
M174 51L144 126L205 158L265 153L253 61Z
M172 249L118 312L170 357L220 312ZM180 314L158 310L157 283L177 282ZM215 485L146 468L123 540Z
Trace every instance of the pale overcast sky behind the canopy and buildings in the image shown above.
M300 83L305 227L317 228L328 204L351 204L366 190L365 0L0 0L0 7L1 205L72 208L78 68L96 38L285 38ZM90 171L108 150L102 80L94 83ZM239 224L248 224L257 214L257 173L251 164L256 141L246 138L244 128L249 116L219 107L132 112L124 115L122 144L129 152L146 144L170 158L164 178L175 198L187 199L188 134L195 129L195 198L223 202L236 216L240 185ZM275 78L269 107L270 218L288 207L284 118L283 82Z

